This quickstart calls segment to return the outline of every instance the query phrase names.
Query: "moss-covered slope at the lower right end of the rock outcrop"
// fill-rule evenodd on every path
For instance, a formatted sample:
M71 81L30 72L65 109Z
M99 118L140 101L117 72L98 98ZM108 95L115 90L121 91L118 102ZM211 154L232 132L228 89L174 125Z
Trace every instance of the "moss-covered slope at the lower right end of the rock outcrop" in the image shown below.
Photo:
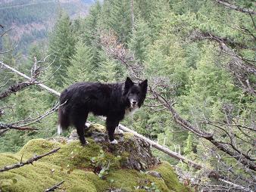
M162 178L169 189L184 192L189 191L183 184L179 182L173 168L169 163L164 162L154 170L161 173Z

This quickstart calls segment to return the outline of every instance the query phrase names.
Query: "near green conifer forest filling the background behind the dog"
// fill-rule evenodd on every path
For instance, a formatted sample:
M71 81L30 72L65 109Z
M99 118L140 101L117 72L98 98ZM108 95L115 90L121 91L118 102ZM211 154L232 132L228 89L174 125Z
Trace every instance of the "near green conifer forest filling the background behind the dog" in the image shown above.
M148 79L144 106L121 123L200 164L194 169L154 150L195 191L254 191L255 6L253 0L95 2L86 17L59 11L48 46L34 46L26 64L17 64L13 53L1 54L1 60L30 76L35 56L48 56L37 78L57 91L73 82ZM24 81L8 70L0 74L0 93ZM28 86L0 100L0 121L33 119L56 101L48 91ZM33 123L35 132L5 129L0 152L15 152L32 138L55 137L57 119L52 113Z

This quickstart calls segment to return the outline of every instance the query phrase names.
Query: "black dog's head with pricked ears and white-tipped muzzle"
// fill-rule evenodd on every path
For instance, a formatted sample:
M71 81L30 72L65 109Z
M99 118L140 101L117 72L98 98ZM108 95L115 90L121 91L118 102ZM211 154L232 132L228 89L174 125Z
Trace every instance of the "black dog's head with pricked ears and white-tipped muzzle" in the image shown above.
M123 94L125 95L126 104L128 107L141 107L145 100L145 95L147 94L147 88L147 79L145 79L143 82L140 82L139 84L136 84L129 77L127 77L126 82L124 83Z

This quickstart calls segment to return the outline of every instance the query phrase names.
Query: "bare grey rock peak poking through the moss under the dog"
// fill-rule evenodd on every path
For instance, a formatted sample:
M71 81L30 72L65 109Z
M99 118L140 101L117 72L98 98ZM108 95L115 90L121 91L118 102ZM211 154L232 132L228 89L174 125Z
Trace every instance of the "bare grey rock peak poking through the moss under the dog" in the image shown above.
M71 132L70 135L68 141L76 141L78 139L76 131ZM87 137L92 138L103 150L111 152L114 156L121 156L120 163L124 168L147 170L160 163L160 160L152 155L150 145L131 133L125 132L115 135L118 144L110 144L105 127L91 124L89 129L86 129L86 139L89 141Z

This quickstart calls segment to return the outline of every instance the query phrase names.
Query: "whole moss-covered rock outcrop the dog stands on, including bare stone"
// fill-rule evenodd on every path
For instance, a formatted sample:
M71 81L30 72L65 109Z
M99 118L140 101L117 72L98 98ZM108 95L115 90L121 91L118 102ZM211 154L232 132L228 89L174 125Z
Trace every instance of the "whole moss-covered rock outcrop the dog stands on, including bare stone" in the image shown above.
M44 191L64 180L55 191L188 191L180 184L169 163L152 155L150 146L130 133L117 135L109 144L105 128L91 125L86 147L69 138L33 139L18 153L0 153L0 168L43 154L57 147L33 165L0 172L1 191Z

